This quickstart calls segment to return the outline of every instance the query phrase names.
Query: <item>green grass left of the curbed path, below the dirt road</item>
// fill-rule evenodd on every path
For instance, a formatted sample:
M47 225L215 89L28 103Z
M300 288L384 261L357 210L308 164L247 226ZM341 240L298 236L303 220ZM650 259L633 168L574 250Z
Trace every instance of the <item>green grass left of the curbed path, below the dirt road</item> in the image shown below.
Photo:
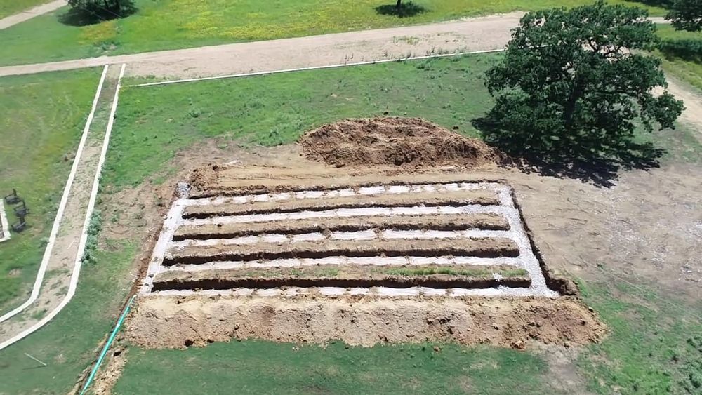
M25 232L0 245L0 312L37 275L99 79L94 69L0 79L0 195L16 188L31 210Z

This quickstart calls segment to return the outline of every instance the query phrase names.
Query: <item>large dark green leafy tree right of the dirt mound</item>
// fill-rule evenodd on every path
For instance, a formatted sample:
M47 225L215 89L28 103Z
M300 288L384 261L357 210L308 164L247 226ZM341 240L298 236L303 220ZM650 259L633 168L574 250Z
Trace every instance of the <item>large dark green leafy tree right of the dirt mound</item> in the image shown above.
M486 73L496 105L478 121L511 154L582 163L623 156L638 127L673 128L682 102L664 91L657 42L640 8L591 6L527 13L503 60Z

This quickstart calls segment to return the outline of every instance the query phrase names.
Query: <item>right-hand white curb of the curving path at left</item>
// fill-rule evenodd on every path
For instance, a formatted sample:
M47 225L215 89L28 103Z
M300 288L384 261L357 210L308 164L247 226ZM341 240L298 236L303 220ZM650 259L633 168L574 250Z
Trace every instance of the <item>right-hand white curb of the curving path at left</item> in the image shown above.
M110 145L110 135L112 134L112 126L114 125L114 114L117 112L117 102L119 101L119 88L121 86L121 80L124 76L124 69L126 64L122 64L119 70L119 77L117 79L117 87L114 91L114 98L112 99L112 107L110 108L110 119L107 121L107 130L105 131L105 138L102 140L102 150L100 151L100 159L98 160L98 169L95 172L95 178L93 179L93 188L91 189L90 200L88 201L88 210L86 212L86 217L83 223L83 232L81 234L81 241L79 244L78 252L76 255L76 260L73 266L73 272L71 274L71 281L68 286L68 292L66 293L63 300L58 304L55 309L49 312L41 321L35 323L33 326L23 330L18 335L15 335L9 340L0 343L0 350L8 347L9 345L22 340L24 337L31 335L35 331L39 330L42 326L46 325L51 321L61 310L66 307L68 302L71 301L73 295L76 293L76 288L78 286L78 279L81 272L81 265L83 261L83 253L85 250L86 242L88 240L88 225L90 223L91 217L93 215L93 210L95 209L95 201L98 196L98 186L100 184L100 175L102 174L102 166L105 164L105 156L107 155L107 147Z

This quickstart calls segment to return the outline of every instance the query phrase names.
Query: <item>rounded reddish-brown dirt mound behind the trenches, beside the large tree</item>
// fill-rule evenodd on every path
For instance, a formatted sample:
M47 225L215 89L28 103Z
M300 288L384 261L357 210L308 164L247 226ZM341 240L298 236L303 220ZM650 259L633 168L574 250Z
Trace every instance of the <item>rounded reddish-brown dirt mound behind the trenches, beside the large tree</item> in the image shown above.
M308 159L333 166L477 167L501 161L496 149L418 118L345 119L300 139Z

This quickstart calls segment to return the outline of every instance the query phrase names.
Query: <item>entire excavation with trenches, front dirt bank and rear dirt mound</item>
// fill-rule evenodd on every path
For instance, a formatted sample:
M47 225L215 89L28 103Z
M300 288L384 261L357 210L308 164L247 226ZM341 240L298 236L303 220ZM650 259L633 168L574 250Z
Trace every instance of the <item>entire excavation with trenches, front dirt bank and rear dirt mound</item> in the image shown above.
M521 348L604 334L541 260L512 187L472 171L503 163L498 150L402 118L324 125L296 149L192 170L127 320L131 342Z

